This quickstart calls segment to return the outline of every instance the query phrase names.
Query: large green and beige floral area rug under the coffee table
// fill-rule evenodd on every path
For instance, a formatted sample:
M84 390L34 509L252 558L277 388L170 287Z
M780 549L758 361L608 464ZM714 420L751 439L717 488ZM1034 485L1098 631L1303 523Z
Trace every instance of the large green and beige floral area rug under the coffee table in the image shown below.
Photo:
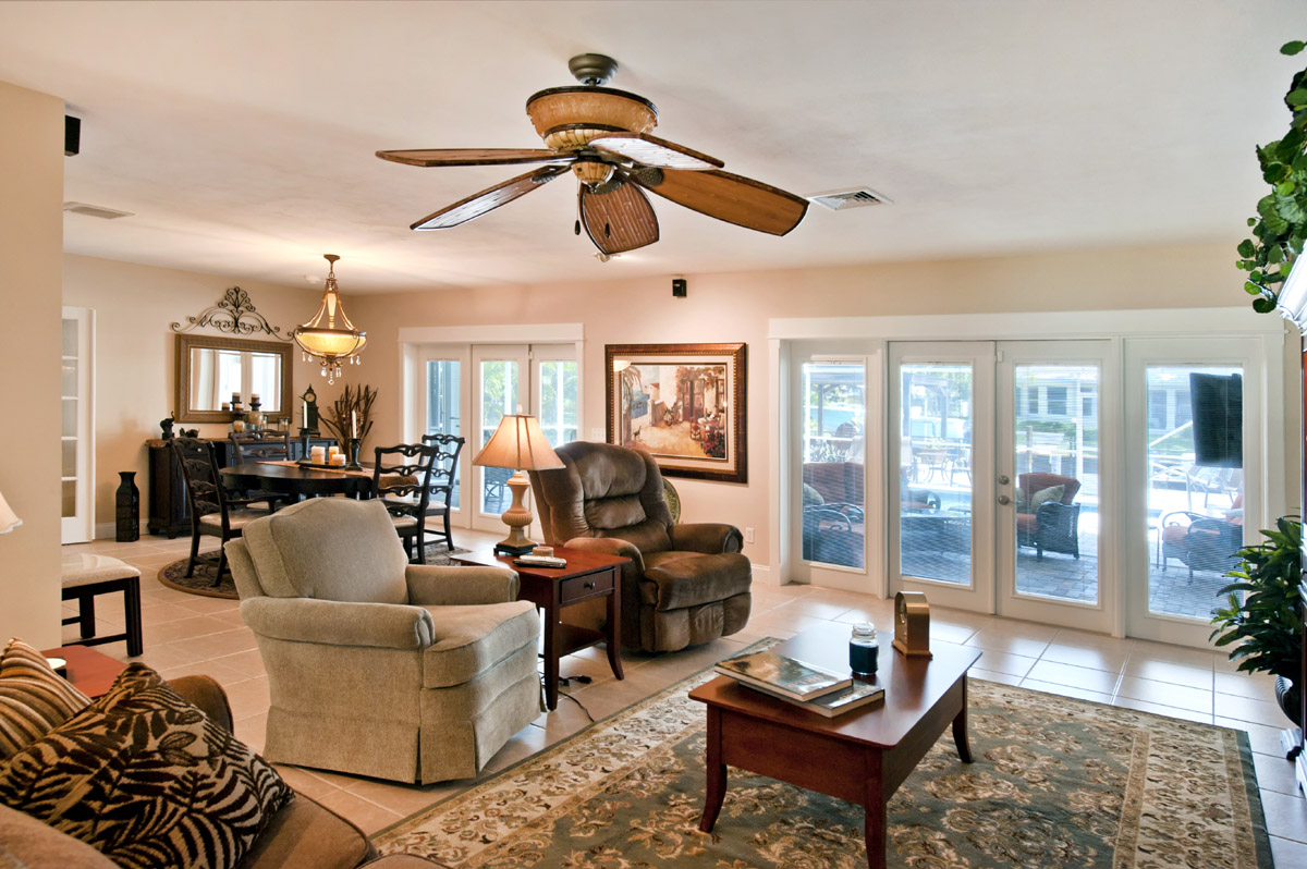
M731 768L698 830L707 672L383 830L383 853L507 869L853 869L863 810ZM887 862L912 869L1272 865L1247 734L972 680L951 733L889 805ZM814 757L813 763L822 758Z

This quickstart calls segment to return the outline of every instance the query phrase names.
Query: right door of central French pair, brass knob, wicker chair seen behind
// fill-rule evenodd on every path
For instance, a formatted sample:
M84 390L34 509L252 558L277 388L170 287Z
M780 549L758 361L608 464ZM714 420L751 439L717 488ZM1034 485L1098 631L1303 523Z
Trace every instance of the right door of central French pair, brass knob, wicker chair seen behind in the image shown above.
M1112 345L1004 341L997 359L999 612L1111 631Z

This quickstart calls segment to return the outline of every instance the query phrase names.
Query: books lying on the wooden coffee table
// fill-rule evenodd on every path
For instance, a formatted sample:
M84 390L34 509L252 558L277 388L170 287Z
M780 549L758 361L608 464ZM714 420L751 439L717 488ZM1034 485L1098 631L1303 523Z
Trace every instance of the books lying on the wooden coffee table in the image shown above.
M719 661L714 669L746 687L829 719L885 697L878 685L855 682L775 652L737 655Z

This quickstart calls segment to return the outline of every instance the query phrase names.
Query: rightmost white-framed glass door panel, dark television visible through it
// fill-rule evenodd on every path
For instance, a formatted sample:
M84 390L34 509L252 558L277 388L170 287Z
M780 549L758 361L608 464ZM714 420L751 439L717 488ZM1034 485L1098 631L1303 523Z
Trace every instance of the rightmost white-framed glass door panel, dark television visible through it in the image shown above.
M1225 572L1265 527L1259 346L1125 341L1125 632L1202 646ZM1251 531L1249 531L1251 529Z

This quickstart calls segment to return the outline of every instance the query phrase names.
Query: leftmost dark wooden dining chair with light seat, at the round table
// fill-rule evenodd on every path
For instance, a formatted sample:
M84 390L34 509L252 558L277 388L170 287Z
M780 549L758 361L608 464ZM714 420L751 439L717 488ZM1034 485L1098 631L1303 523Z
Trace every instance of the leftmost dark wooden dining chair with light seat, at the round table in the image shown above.
M200 537L205 534L218 537L222 544L239 537L247 524L272 514L277 495L264 493L260 498L240 498L227 491L218 473L217 447L210 440L174 438L171 446L182 467L187 506L191 510L191 558L186 565L186 575L191 578L195 575L195 565L200 555ZM251 507L265 500L269 502L268 510ZM222 583L222 574L226 570L227 553L220 545L214 587Z

